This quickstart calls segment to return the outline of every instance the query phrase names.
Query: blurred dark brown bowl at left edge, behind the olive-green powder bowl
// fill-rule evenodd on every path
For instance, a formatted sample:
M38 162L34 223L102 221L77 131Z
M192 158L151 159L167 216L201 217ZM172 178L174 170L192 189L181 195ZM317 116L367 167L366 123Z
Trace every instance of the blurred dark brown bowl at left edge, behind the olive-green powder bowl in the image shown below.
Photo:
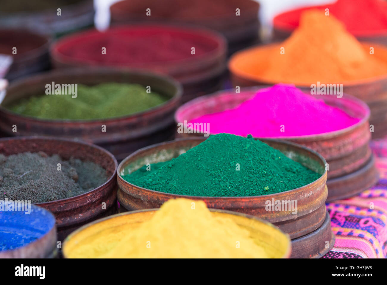
M1 18L1 17L0 17ZM17 48L13 63L5 78L14 80L31 73L44 71L50 67L48 47L51 39L28 29L0 29L0 54L12 55L12 47ZM5 50L5 45L9 49Z

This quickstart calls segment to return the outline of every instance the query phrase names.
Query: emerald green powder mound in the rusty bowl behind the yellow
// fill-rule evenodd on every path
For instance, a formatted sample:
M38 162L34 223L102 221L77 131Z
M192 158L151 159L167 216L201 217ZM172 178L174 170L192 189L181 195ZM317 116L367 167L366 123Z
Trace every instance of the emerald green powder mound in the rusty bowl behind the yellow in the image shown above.
M320 176L251 135L220 133L170 161L151 164L151 170L143 166L123 179L173 194L241 197L295 189Z

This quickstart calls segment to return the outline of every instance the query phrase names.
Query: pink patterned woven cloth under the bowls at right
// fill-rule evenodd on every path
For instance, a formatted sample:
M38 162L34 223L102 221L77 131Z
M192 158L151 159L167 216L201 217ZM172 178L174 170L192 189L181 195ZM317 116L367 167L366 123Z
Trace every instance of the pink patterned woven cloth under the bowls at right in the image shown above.
M379 182L356 197L327 203L336 242L322 258L387 258L387 139L373 140L371 147Z

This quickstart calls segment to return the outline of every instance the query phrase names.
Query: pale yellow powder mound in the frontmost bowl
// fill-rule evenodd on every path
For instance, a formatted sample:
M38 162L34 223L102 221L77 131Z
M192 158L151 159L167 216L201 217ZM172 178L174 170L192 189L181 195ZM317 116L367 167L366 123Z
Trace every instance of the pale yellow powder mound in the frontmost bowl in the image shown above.
M101 230L65 254L70 258L268 257L248 230L214 216L204 202L188 199L169 200L140 226L129 228L123 223Z

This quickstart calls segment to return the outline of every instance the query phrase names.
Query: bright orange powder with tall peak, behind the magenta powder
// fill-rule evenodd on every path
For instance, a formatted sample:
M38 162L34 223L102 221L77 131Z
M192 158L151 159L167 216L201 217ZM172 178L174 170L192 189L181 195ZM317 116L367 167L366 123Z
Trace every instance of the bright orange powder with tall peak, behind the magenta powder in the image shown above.
M235 54L229 69L237 76L267 83L343 84L387 76L387 48L360 43L334 16L309 10L288 39Z

